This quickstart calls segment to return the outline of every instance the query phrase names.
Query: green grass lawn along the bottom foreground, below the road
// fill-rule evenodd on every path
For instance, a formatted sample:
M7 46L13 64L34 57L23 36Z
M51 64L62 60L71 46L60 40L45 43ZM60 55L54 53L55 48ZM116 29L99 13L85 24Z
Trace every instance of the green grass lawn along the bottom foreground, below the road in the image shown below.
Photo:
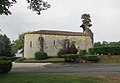
M0 83L117 83L105 77L82 76L80 74L6 74Z

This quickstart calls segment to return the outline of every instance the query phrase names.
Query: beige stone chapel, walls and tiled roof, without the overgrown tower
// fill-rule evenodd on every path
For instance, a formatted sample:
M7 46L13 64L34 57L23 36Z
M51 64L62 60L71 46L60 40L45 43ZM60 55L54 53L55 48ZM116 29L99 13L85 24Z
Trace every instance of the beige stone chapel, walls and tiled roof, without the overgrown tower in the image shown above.
M87 32L55 30L29 32L24 37L24 57L34 58L37 51L44 51L48 56L57 56L60 49L66 49L73 44L78 51L88 51L93 47L93 39Z

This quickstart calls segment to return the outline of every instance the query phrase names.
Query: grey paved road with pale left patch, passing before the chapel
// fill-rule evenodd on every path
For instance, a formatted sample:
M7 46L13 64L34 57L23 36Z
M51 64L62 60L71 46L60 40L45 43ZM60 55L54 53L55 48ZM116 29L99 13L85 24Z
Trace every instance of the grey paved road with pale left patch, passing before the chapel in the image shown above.
M114 73L120 74L120 64L102 63L13 63L10 73Z

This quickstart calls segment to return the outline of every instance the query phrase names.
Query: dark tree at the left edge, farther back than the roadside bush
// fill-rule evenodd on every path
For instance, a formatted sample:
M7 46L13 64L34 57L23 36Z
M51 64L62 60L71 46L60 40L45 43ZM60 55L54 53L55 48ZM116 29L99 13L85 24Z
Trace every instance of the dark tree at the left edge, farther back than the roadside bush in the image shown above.
M11 42L6 35L0 34L0 56L12 56Z

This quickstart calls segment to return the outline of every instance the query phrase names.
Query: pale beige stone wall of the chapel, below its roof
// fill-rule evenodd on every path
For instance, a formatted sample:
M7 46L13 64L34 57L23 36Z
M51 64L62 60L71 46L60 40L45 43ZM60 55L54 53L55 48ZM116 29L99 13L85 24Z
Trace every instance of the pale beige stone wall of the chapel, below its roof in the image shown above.
M90 36L63 36L63 35L44 35L44 34L26 34L24 43L24 57L34 58L35 52L40 50L39 37L43 37L43 49L48 56L57 56L60 49L63 48L64 40L68 39L74 43L78 50L87 50L93 47Z

